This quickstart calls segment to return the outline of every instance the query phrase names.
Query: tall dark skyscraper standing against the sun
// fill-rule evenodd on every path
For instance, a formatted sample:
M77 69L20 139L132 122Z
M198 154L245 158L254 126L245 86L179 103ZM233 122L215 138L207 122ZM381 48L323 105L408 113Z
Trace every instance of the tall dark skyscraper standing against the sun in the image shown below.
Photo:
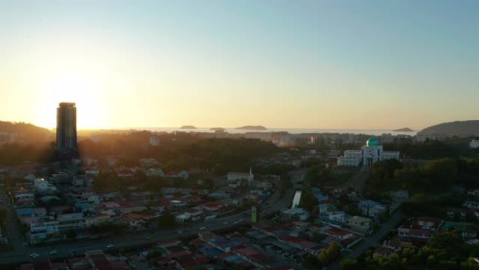
M57 151L76 153L76 106L61 102L57 108Z

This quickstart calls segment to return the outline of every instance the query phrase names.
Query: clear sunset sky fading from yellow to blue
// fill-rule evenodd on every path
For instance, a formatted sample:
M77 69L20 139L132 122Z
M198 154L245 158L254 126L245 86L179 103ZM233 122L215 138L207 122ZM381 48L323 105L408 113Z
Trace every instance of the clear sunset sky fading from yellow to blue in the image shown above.
M0 120L426 128L479 119L479 1L0 0Z

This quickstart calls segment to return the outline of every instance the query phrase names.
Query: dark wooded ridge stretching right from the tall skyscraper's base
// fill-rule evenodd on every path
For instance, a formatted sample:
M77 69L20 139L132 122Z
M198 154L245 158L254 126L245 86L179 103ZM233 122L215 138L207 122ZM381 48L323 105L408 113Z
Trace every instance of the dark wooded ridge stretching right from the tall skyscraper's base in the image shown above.
M153 147L148 144L150 136L148 131L101 135L99 142L81 141L79 151L90 158L118 156L123 166L137 166L139 158L155 158L165 171L200 168L218 175L231 170L246 172L254 158L279 151L271 142L261 140L204 139L188 133L158 135L160 146Z

